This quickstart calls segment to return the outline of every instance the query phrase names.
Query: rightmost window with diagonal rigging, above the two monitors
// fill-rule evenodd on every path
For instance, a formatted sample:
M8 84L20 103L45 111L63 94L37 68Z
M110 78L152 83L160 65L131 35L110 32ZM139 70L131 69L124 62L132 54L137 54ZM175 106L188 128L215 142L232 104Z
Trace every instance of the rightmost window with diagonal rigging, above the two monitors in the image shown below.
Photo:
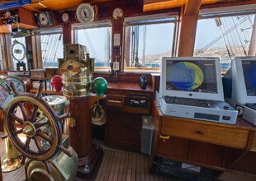
M202 13L200 18L197 22L194 56L220 57L221 71L225 73L230 68L232 58L253 55L254 13L222 12L218 16Z

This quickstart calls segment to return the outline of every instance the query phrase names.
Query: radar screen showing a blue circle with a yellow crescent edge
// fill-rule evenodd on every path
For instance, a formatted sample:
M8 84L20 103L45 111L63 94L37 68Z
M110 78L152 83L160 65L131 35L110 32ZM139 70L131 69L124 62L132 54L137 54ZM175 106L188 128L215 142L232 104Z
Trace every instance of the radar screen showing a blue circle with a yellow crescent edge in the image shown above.
M218 93L214 60L167 60L166 89Z

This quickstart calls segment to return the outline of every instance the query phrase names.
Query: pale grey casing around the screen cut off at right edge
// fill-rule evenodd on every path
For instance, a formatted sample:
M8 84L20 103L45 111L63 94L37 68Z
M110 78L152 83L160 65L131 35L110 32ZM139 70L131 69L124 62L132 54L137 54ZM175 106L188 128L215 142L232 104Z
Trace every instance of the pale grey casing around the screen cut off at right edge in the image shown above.
M240 104L256 103L256 96L247 95L247 89L244 79L243 61L256 61L256 57L236 57L232 60L232 77L236 90L236 99ZM234 66L235 63L235 66Z

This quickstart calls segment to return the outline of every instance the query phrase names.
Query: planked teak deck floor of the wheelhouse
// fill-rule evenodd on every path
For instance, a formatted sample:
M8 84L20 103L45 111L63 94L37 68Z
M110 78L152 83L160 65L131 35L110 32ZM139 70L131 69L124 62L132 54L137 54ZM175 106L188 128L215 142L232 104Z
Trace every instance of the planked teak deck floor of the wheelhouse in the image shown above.
M2 133L0 133L0 136ZM3 148L3 149L2 149ZM97 181L127 180L127 181L181 181L182 179L171 178L162 174L149 173L149 157L140 153L121 151L102 146L104 156L102 165L97 173ZM6 155L4 141L0 139L0 156ZM3 181L24 181L25 169L22 166L10 173L2 173Z

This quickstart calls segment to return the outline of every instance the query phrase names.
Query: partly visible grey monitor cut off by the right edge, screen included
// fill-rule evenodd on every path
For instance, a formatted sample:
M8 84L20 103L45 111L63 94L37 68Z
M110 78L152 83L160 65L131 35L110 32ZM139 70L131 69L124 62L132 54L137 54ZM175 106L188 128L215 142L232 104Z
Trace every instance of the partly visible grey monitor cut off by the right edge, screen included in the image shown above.
M256 103L256 57L236 57L231 65L232 100Z

